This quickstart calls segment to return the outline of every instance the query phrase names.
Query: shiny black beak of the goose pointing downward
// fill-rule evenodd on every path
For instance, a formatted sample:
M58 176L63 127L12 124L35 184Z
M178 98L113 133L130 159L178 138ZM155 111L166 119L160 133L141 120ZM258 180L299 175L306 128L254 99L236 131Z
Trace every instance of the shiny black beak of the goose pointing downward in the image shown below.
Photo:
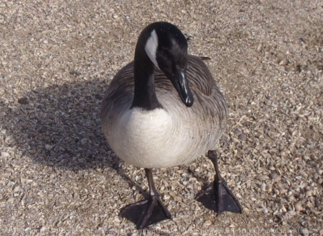
M186 77L186 70L176 68L174 77L171 79L177 93L180 95L182 102L186 107L193 105L194 97L189 89L188 80Z

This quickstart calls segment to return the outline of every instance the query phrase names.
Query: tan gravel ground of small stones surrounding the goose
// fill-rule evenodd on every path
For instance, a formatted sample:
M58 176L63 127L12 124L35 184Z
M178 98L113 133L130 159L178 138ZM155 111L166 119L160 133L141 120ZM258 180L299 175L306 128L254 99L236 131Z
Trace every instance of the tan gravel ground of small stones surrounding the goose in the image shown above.
M143 169L99 126L110 80L141 29L178 25L230 109L220 169L244 213L194 196L212 164L154 170L173 220L145 235L323 235L320 0L0 1L1 235L137 235L118 216L143 198Z

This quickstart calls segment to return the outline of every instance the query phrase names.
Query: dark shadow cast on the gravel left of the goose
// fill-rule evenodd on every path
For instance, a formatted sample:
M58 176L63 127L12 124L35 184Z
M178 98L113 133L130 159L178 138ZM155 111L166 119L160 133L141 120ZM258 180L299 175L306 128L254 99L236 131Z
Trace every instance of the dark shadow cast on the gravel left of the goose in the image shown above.
M100 127L100 104L107 83L99 79L25 92L14 106L0 100L2 127L22 157L55 168L110 167L132 188L145 192L126 174Z

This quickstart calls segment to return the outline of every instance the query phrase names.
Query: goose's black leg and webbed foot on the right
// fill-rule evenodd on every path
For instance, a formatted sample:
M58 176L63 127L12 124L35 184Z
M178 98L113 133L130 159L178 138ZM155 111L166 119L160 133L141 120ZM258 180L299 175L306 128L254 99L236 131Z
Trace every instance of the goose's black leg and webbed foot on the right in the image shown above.
M235 212L242 213L241 206L235 198L227 183L220 175L218 167L218 156L215 151L208 151L208 158L214 165L214 182L208 188L202 191L196 199L203 203L207 208L217 212Z

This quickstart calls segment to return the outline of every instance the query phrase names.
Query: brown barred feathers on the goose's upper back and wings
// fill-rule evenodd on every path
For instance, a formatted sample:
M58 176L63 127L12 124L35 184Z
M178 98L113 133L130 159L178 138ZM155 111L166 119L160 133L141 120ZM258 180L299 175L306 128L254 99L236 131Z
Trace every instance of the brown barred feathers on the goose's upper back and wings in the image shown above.
M195 112L204 120L211 116L213 120L212 129L221 136L227 123L228 109L223 94L216 85L207 65L197 56L188 56L186 71L189 85L194 94ZM174 101L179 109L186 109L181 102L172 83L162 71L155 70L156 93L166 93L167 96L175 96ZM123 67L111 81L109 89L103 99L101 106L101 117L106 116L108 110L114 111L113 116L120 114L122 110L129 109L134 95L134 63L131 62ZM174 106L176 106L173 104ZM111 115L111 113L110 113ZM208 119L208 118L207 118Z

